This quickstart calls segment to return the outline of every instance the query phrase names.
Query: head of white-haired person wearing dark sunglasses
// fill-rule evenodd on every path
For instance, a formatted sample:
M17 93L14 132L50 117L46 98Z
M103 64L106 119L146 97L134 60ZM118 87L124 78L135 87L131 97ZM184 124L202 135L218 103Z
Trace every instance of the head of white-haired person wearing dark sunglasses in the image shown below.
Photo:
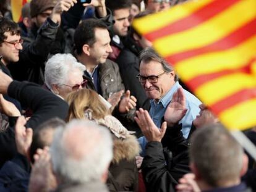
M84 70L85 66L71 54L56 54L46 62L45 86L64 99L87 85L87 80L83 80Z

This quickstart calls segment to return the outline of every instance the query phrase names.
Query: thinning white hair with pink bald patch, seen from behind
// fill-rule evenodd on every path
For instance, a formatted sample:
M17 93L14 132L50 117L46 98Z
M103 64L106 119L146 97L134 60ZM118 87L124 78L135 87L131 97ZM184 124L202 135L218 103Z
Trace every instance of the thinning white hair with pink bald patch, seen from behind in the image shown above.
M100 180L113 158L109 130L89 120L72 120L59 128L51 145L53 170L61 182Z

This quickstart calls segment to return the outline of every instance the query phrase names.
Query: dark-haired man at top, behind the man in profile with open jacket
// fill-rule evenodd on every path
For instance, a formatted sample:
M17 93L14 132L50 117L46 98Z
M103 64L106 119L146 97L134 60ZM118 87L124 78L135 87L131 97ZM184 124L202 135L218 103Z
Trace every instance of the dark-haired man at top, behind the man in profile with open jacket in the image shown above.
M114 17L113 34L111 34L111 48L113 52L109 55L109 59L116 61L121 50L124 48L123 38L128 34L130 26L129 15L132 1L130 0L106 0L106 6L111 10Z

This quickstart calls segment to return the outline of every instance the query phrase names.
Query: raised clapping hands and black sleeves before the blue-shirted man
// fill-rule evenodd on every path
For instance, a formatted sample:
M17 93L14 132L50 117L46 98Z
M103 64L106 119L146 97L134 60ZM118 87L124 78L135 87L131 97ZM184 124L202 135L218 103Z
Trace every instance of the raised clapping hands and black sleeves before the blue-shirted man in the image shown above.
M182 88L174 93L164 114L161 129L156 127L147 111L137 111L136 122L147 138L145 156L141 165L148 192L173 192L189 168L189 143L183 137L179 120L186 114L186 99Z

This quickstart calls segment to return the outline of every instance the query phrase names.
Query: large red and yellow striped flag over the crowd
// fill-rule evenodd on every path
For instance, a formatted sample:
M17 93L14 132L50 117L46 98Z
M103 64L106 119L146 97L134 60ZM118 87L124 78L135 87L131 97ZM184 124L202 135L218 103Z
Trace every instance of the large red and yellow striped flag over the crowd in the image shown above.
M231 130L256 125L256 1L189 1L134 28Z

